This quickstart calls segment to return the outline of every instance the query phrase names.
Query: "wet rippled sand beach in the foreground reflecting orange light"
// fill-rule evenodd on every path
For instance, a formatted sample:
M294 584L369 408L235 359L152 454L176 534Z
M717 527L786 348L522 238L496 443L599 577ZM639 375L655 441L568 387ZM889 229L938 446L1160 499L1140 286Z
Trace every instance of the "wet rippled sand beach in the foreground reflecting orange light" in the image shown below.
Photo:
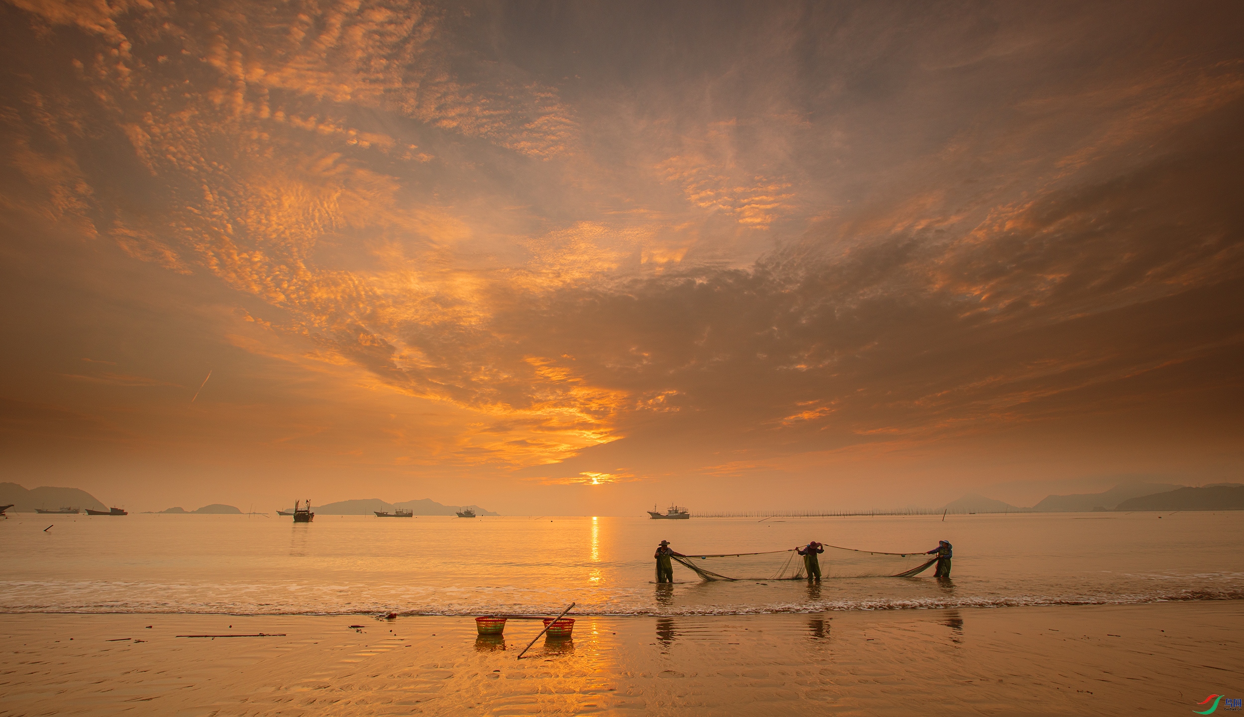
M1239 600L578 616L522 660L539 623L495 641L466 616L0 625L6 716L1168 715L1244 686ZM284 636L178 637L259 633Z

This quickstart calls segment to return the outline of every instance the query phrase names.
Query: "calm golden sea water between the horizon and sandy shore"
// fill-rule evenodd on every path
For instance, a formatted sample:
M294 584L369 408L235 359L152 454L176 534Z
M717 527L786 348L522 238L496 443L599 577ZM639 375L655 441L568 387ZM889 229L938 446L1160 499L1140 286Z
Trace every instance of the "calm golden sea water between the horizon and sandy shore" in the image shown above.
M52 528L45 531L49 524ZM950 580L702 582L683 553L817 539L883 552L954 543ZM850 517L374 518L15 514L0 613L709 615L1244 598L1244 512ZM780 557L785 560L785 557ZM760 577L763 578L763 577Z

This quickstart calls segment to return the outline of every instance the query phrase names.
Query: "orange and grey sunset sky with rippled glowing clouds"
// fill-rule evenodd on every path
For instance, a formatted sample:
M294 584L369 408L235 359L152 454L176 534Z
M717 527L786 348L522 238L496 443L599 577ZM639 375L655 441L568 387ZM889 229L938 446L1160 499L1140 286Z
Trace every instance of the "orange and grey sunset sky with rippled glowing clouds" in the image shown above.
M5 0L0 481L642 514L1239 480L1242 26Z

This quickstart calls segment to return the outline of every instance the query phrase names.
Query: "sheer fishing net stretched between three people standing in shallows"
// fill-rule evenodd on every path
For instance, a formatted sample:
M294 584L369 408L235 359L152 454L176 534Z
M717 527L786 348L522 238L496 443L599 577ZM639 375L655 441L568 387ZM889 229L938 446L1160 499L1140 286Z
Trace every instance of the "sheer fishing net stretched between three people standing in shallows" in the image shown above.
M822 578L911 578L937 562L919 553L876 553L822 546L817 555ZM804 555L794 549L768 553L673 557L704 580L799 580L806 578Z

